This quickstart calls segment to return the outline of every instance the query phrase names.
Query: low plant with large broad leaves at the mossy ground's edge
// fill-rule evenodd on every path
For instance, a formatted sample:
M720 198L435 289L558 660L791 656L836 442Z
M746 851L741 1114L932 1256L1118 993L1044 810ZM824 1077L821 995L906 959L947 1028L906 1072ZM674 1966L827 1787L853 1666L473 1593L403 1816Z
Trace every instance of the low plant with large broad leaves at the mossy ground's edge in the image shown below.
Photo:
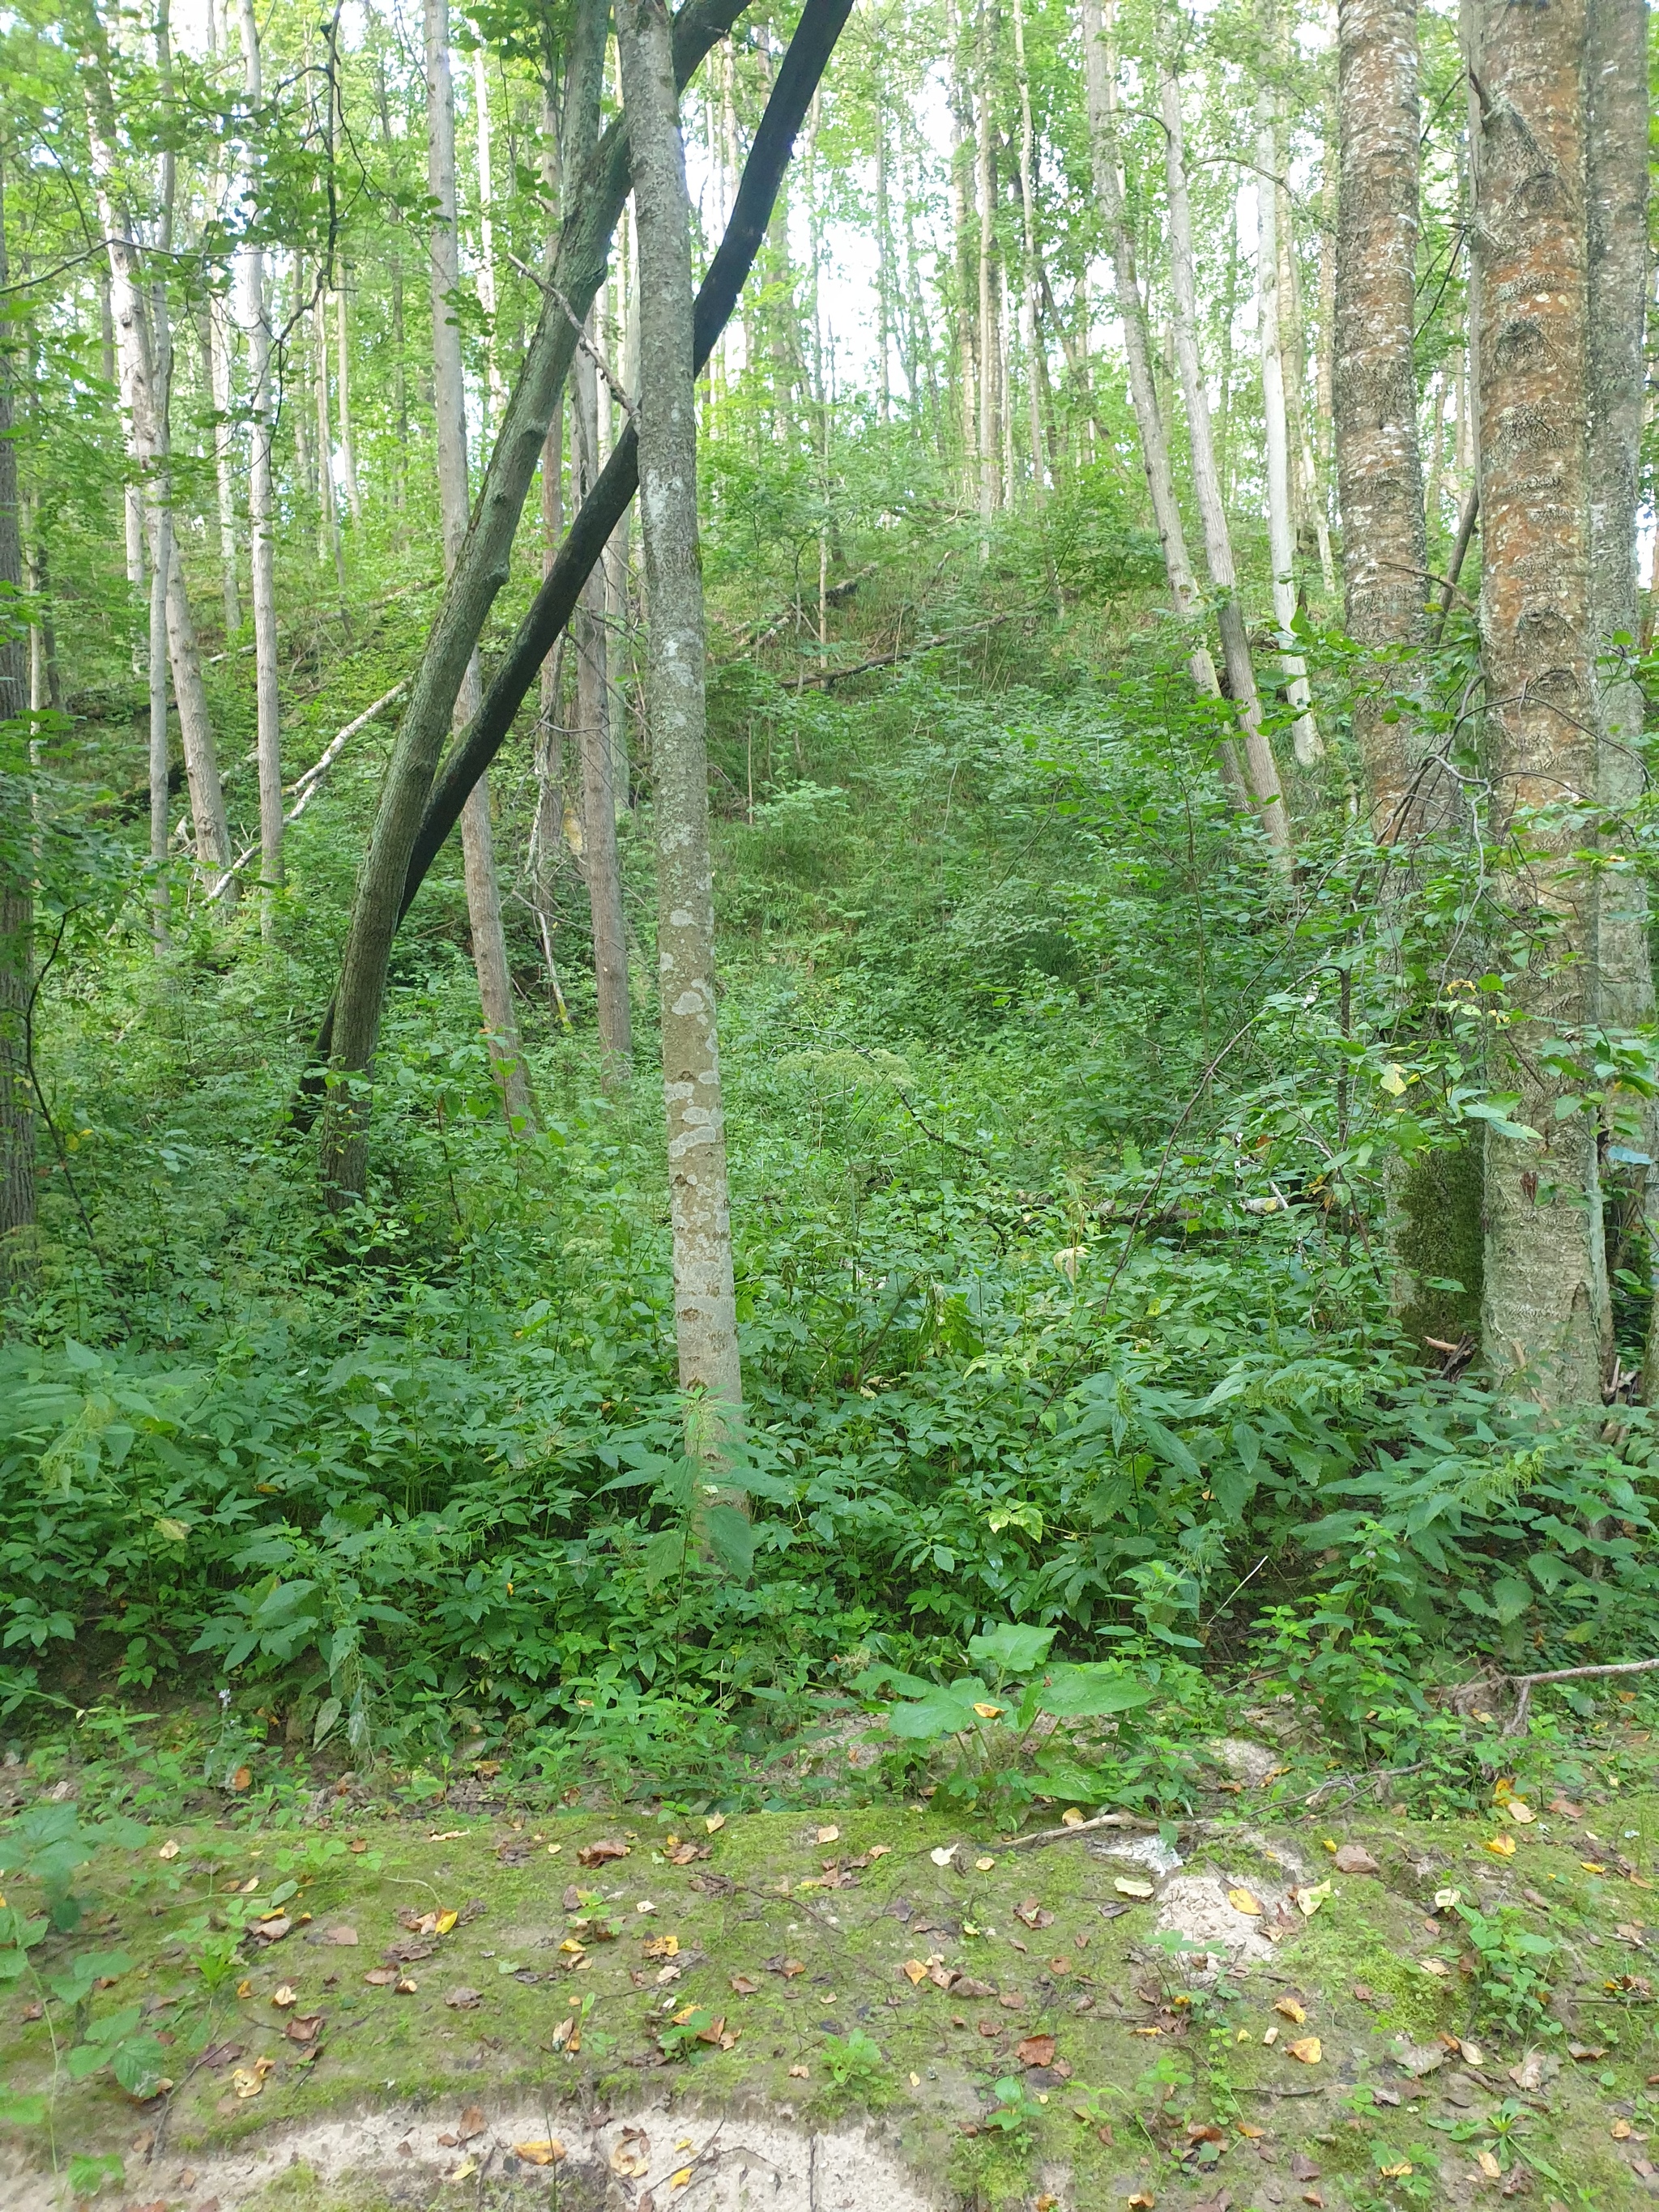
M1164 1668L1157 1659L1046 1666L1055 1632L1004 1621L969 1637L978 1674L933 1683L874 1666L854 1690L867 1699L898 1690L900 1701L885 1708L891 1734L951 1745L940 1792L960 1805L1013 1814L1035 1796L1097 1803L1106 1785L1088 1761L1099 1754L1099 1730L1086 1723L1150 1705Z

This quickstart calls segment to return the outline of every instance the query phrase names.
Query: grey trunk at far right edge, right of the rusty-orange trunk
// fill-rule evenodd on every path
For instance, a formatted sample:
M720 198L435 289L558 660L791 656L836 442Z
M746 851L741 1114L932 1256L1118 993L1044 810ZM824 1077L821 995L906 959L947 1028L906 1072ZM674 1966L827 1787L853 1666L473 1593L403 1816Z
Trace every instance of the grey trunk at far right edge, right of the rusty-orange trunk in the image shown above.
M1641 361L1648 279L1648 20L1644 0L1590 0L1586 82L1588 210L1588 471L1590 626L1599 659L1601 805L1615 849L1641 799L1644 697L1632 675L1639 637L1637 487L1641 462ZM1655 1018L1648 891L1628 852L1601 874L1597 969L1606 1029ZM1632 1241L1646 1234L1646 1270L1659 1290L1659 1106L1615 1095L1608 1110L1608 1199ZM1621 1152L1637 1155L1619 1159ZM1646 1166L1644 1166L1646 1155ZM1613 1206L1610 1206L1613 1210ZM1630 1263L1637 1259L1630 1254ZM1613 1267L1613 1254L1608 1256ZM1659 1402L1659 1296L1644 1349L1644 1398Z

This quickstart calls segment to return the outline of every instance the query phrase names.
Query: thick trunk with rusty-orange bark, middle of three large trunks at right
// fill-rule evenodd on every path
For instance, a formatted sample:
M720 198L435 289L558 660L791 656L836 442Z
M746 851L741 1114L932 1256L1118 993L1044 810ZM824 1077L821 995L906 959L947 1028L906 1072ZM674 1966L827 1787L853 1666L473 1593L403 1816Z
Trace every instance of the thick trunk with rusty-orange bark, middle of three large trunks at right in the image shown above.
M1486 1139L1482 1345L1502 1385L1599 1405L1608 1358L1597 1121L1557 1117L1577 1084L1546 1060L1597 1018L1595 876L1582 816L1599 799L1588 480L1584 0L1475 0L1482 100L1480 630L1493 887L1511 1029L1491 1073L1533 1144ZM1413 513L1420 513L1413 500Z

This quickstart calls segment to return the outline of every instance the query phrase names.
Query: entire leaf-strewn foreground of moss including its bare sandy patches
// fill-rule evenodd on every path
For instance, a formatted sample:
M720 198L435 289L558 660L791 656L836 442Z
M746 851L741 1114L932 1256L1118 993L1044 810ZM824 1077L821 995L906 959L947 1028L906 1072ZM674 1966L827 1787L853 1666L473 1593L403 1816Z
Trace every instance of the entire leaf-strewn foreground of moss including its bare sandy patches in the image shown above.
M119 2157L111 2212L1659 2192L1659 1787L1287 1818L1272 1752L1219 1750L1201 1818L1018 1849L931 1805L531 1814L471 1778L418 1818L343 1781L290 1829L150 1825L86 1869L75 1942L119 1944L91 2013L139 2006L177 2079L55 2068L60 1938L0 2070L51 2093L58 2159ZM7 2212L64 2201L49 2163L9 2139Z

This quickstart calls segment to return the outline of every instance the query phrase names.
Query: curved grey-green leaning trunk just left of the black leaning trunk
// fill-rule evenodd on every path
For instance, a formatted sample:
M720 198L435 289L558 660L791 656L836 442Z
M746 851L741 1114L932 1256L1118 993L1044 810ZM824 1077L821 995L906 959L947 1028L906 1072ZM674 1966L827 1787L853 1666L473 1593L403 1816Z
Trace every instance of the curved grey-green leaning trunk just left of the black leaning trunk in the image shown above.
M675 20L675 73L690 77L741 13L743 0L686 0ZM593 153L560 246L531 343L507 403L467 540L427 637L409 708L387 765L369 849L358 872L341 960L332 1031L332 1086L323 1115L321 1177L336 1194L361 1194L367 1168L367 1075L380 1029L387 956L403 911L420 816L431 794L467 664L495 593L507 582L524 495L564 387L575 332L604 274L611 232L628 192L628 133L613 124ZM469 785L471 787L471 785Z

